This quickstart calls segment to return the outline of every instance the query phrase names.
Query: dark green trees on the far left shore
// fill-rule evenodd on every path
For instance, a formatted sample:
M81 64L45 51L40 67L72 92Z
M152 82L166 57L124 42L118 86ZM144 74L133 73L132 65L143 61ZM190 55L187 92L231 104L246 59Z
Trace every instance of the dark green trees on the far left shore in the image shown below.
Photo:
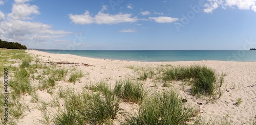
M27 49L26 45L22 45L17 42L7 42L7 41L2 41L0 39L0 48L8 48L8 49Z

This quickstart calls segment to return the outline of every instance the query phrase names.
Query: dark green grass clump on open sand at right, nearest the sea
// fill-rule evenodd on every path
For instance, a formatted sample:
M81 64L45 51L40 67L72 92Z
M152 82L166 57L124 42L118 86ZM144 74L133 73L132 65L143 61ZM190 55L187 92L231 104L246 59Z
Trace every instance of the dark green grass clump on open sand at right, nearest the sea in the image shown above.
M191 83L191 94L207 95L216 94L217 74L206 66L176 67L165 71L164 81L183 80ZM220 83L223 83L223 78ZM220 87L221 85L219 85Z

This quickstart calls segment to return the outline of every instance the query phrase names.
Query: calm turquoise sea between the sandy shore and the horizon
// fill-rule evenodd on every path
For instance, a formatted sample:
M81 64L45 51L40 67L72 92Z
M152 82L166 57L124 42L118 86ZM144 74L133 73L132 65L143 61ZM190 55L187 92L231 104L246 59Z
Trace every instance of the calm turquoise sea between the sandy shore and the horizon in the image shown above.
M39 49L48 53L72 54L112 60L163 61L256 61L256 51L67 51Z

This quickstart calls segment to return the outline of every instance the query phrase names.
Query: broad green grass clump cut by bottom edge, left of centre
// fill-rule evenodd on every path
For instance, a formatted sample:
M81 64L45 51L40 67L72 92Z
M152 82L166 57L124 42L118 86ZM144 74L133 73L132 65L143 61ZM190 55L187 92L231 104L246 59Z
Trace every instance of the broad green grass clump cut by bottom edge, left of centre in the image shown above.
M55 124L108 124L121 114L120 98L106 85L96 92L67 89L64 99L65 110L54 114Z

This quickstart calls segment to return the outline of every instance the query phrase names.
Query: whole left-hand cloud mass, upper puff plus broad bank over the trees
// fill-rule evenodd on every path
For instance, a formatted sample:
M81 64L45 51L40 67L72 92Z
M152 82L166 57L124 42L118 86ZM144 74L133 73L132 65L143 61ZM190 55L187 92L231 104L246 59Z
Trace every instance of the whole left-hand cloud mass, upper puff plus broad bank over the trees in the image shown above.
M53 26L40 22L25 21L32 19L34 14L40 14L38 7L27 4L29 0L15 0L11 13L0 11L0 39L13 42L41 42L44 43L55 38L60 38L72 32L52 30Z

